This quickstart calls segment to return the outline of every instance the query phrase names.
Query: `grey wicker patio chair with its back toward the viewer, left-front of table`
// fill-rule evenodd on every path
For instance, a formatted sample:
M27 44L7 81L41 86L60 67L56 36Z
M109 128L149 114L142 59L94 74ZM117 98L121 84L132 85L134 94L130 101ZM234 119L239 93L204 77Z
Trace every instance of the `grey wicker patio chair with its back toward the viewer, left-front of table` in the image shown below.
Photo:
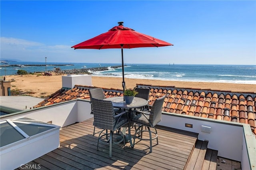
M128 124L128 111L124 111L116 115L111 101L104 101L92 98L91 102L94 112L94 126L102 129L98 137L97 150L99 142L109 144L109 157L111 158L112 144L119 144L123 142L125 148L124 134L122 133L122 131L120 131L121 134L114 132L120 129L122 126ZM102 134L104 130L106 130L106 133ZM108 133L108 130L110 130L110 133ZM121 140L116 141L113 140L113 135L122 136L122 138Z

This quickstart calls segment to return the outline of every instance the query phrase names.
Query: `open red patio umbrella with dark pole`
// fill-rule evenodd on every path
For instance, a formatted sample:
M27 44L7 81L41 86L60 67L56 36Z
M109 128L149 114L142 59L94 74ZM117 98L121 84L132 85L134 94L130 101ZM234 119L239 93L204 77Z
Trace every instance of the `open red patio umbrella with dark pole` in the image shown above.
M99 36L86 40L82 43L72 46L74 49L108 49L121 48L122 51L122 87L125 88L124 81L124 55L123 48L138 47L163 47L172 45L151 36L134 31L131 28L123 26L124 22L118 22L118 26L113 27Z

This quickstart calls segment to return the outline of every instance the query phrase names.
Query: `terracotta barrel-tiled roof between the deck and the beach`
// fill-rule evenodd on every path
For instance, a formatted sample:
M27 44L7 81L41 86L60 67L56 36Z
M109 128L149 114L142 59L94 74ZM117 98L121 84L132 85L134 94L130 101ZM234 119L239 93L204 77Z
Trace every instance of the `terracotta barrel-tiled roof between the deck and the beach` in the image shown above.
M174 86L152 86L137 84L150 89L149 104L166 95L163 111L204 117L223 121L249 124L256 134L256 92L232 92L211 89L183 89ZM73 99L90 98L91 86L75 86L72 89L60 89L34 108L52 105ZM102 87L103 88L103 87ZM106 98L122 96L122 89L103 88Z

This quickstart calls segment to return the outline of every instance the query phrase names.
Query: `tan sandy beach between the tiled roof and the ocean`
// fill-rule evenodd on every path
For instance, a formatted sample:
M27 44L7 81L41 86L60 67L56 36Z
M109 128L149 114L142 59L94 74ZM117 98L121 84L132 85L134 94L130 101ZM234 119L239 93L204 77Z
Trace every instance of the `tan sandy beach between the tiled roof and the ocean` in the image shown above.
M8 75L6 81L11 81L11 91L16 95L30 95L45 98L62 88L62 75ZM96 87L122 89L122 78L92 76L92 85ZM125 79L126 87L133 88L136 84L153 86L175 86L183 88L201 88L212 90L227 90L232 92L255 92L255 84L209 83L188 81L161 81L149 79Z

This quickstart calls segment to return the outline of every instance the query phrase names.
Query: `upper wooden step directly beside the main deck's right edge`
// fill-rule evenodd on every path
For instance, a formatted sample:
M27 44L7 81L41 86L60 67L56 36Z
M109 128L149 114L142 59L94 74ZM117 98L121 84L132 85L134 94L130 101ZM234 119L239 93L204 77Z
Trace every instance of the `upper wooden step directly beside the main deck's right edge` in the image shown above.
M197 140L191 157L186 164L186 170L201 170L204 164L204 157L207 150L207 141ZM217 158L216 158L217 160Z

